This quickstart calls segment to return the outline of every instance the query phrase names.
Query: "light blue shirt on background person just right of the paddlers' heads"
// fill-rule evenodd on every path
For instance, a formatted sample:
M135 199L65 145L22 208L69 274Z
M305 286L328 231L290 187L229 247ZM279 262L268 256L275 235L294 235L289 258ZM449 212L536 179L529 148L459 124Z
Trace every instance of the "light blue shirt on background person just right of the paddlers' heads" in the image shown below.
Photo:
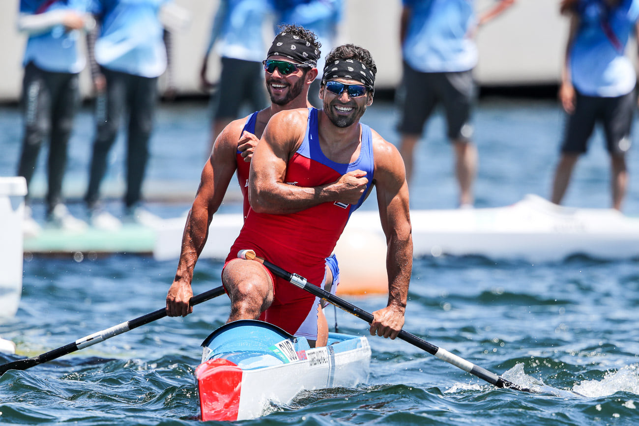
M461 72L477 65L468 37L477 18L473 0L403 0L412 11L402 47L404 61L420 72Z

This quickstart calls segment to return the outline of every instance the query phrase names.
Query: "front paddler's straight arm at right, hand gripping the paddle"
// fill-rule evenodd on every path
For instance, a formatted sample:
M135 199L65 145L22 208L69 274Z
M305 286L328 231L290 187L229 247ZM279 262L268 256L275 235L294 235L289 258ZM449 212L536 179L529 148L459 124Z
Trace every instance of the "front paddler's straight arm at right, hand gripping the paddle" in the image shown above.
M404 325L408 284L413 268L413 240L408 211L408 184L399 151L374 133L375 178L381 227L386 236L389 300L373 312L371 335L395 339Z

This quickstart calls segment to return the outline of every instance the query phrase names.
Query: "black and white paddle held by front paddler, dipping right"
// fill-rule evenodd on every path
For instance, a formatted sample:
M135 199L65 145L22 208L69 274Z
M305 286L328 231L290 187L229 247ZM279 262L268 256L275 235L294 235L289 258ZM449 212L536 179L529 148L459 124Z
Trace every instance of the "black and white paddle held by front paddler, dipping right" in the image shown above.
M358 308L355 305L352 305L348 301L339 298L338 296L335 296L334 294L331 294L328 291L317 287L316 285L309 284L306 278L296 273L285 271L279 266L274 265L271 262L266 261L265 259L261 259L261 257L257 257L253 250L240 250L240 252L238 252L238 257L240 257L240 259L249 259L261 262L264 266L266 266L266 268L272 271L272 273L277 275L277 277L284 278L284 280L287 280L291 284L300 287L300 289L302 290L314 294L314 296L318 296L319 298L328 300L330 303L337 306L338 308L341 308L349 314L353 314L354 316L363 319L369 324L373 323L373 314L366 312L366 310ZM440 358L440 360L444 360L447 363L450 363L455 367L464 370L465 372L473 374L474 376L477 376L490 384L494 384L498 388L510 388L523 392L536 393L534 390L522 388L521 386L518 386L501 376L497 376L497 374L493 372L489 372L488 370L479 367L478 365L475 365L470 361L466 361L460 356L450 353L446 349L442 349L441 347L430 344L429 342L426 342L426 340L420 339L419 337L408 333L408 331L401 330L397 337L412 344L413 346L419 347L419 349L423 349L429 354L435 355L437 358Z

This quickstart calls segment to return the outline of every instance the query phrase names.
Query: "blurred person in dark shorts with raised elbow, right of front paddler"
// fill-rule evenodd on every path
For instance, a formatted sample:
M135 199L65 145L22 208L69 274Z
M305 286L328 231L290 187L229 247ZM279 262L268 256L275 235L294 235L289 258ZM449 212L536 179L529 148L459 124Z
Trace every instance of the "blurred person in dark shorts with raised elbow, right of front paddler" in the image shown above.
M442 103L454 148L459 207L473 205L477 172L470 123L475 99L472 70L477 65L475 29L512 6L514 0L496 2L477 19L473 0L403 0L400 40L404 69L398 130L406 179L410 182L413 175L413 150L424 123Z

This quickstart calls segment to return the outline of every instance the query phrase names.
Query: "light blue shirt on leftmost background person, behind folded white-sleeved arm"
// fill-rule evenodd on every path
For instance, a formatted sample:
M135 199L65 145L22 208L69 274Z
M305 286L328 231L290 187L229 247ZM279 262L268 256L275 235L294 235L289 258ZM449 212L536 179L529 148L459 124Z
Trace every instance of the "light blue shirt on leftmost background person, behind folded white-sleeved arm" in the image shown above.
M43 9L45 0L20 0L20 13L34 15L55 10L70 10L84 14L88 11L89 1L54 1ZM33 62L38 68L49 72L81 72L86 65L86 57L79 51L77 40L82 34L79 30L66 31L65 26L61 24L45 33L32 34L27 40L22 65Z

